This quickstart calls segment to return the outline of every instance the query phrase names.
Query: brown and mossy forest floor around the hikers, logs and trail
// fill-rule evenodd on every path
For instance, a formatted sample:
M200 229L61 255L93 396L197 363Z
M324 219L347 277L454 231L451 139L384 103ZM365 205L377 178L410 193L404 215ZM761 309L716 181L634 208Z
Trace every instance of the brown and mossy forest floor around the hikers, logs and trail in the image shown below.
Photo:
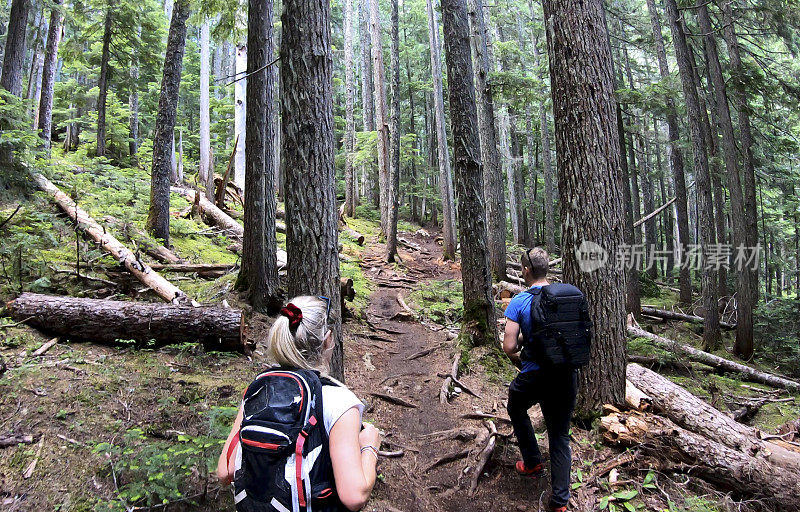
M141 224L147 190L141 174L111 173L107 167L85 170L65 176L60 186L80 190L80 203L95 218L110 208L116 211L105 214L125 215ZM19 199L0 199L0 218L5 219ZM10 233L3 234L3 300L13 298L18 288L93 297L136 293L135 285L109 290L102 283L55 272L53 268L69 268L70 261L74 268L73 227L45 199L29 196L24 201L24 210L6 226ZM173 201L176 212L185 209L182 199ZM381 459L381 476L366 510L544 510L549 480L522 479L513 469L519 452L504 418L507 385L516 370L498 347L464 350L457 345L458 264L442 261L437 233L408 223L401 226L403 262L387 264L375 220L365 214L349 222L367 236L367 243L359 247L343 241L342 274L354 279L357 292L356 300L348 303L343 330L346 381L367 404L365 419L385 432L383 449L403 450L400 457ZM223 235L207 232L192 219L177 219L176 227L173 243L190 261L235 261L225 251L228 240ZM118 271L104 273L114 267L97 249L81 240L77 244L82 261L96 258L91 276L121 279ZM225 299L242 304L231 290L235 274L217 280L178 277L168 276L203 302ZM412 313L400 304L398 295ZM659 295L643 302L665 307L674 302L668 291ZM142 299L152 298L145 293ZM30 434L33 443L0 448L0 510L147 510L148 505L151 510L233 510L229 491L219 488L209 470L216 465L241 390L264 365L260 347L252 357L243 357L204 352L194 344L154 349L60 340L44 355L33 356L49 337L10 324L10 319L0 318L0 357L8 365L0 375L0 435ZM266 317L252 317L248 335L263 339L269 325ZM699 343L688 324L643 327ZM729 338L725 345L730 346ZM664 361L676 358L642 340L631 340L629 349ZM720 355L730 357L724 348ZM450 372L455 357L460 381L480 398L455 390L443 404L441 375ZM727 410L730 396L767 392L763 386L692 365L665 374L721 410ZM771 431L798 417L800 395L794 398L765 405L750 424ZM500 436L477 493L469 496L471 468L487 432L481 420L463 418L473 413L496 415ZM617 460L620 452L601 442L596 425L586 427L572 429L574 510L602 506L700 512L734 510L739 505L702 480L662 472L662 461L638 451L633 463L594 478L598 468ZM461 440L430 435L451 429L464 431ZM546 453L546 434L540 444ZM464 451L468 453L463 457L431 467L444 455ZM746 509L747 505L742 508ZM751 510L758 508L751 505Z

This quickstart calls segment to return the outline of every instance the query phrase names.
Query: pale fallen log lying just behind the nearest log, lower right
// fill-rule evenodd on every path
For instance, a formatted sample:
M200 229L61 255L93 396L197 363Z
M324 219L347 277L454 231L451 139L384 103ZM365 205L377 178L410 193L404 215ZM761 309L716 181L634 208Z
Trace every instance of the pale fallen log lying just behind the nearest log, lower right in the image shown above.
M682 427L751 457L800 472L800 454L760 439L761 433L736 422L671 380L638 364L629 364L630 382L649 395L653 407Z

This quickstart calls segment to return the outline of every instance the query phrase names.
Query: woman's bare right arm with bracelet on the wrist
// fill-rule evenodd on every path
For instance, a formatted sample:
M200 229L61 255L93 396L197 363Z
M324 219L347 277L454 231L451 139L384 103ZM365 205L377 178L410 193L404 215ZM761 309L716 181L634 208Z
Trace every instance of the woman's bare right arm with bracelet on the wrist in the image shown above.
M363 446L379 448L378 431L369 424L361 430L358 409L347 410L333 425L330 432L330 453L336 492L342 504L350 510L361 509L369 499L375 485L375 466L378 458L372 450L361 451Z

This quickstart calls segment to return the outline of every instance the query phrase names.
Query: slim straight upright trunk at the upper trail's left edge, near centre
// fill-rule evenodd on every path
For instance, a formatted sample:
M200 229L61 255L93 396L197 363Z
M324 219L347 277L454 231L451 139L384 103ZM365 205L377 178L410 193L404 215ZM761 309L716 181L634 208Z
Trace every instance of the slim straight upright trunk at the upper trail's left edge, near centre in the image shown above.
M399 0L392 0L392 127L389 193L387 194L386 260L393 262L397 254L397 215L400 196L400 13Z

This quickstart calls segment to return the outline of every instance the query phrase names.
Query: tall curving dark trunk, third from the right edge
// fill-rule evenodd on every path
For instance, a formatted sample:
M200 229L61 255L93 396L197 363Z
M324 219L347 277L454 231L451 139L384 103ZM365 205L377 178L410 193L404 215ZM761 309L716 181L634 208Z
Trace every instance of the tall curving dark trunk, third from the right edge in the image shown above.
M709 248L714 245L714 213L711 202L711 178L708 167L708 156L703 138L703 126L700 111L700 99L695 88L692 76L691 56L686 42L684 25L679 18L678 6L675 0L665 0L667 18L672 28L672 38L675 45L675 56L683 85L683 94L686 98L686 109L689 113L689 131L694 153L694 167L696 175L697 209L699 211L699 225L701 227L701 247L703 254L709 254ZM705 266L704 266L705 267ZM717 272L711 268L702 271L703 308L705 310L705 325L703 328L703 348L714 350L720 342L719 311L717 306Z

